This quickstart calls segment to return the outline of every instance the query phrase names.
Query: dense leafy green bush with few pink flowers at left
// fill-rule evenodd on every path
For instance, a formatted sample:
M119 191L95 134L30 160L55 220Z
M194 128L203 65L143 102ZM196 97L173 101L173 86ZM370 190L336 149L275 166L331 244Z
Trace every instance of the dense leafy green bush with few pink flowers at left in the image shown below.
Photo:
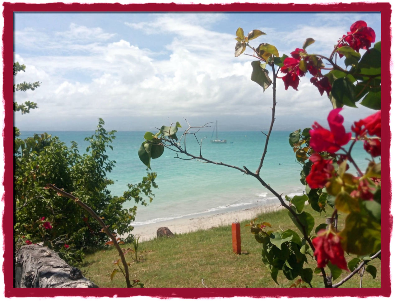
M24 66L14 64L14 74ZM17 88L18 89L18 88ZM36 106L35 106L36 107ZM25 110L26 113L28 111ZM44 242L68 263L80 261L83 251L107 241L100 225L74 201L53 195L44 189L48 183L84 200L109 229L118 236L130 233L137 206L125 209L125 202L135 201L146 206L154 194L156 173L147 172L138 184L128 184L122 196L112 196L107 178L115 166L106 154L112 149L116 131L107 132L99 119L95 133L85 138L86 153L80 154L76 142L68 147L58 137L34 134L14 140L14 238L15 246ZM18 131L19 132L19 131ZM144 200L143 196L148 200Z

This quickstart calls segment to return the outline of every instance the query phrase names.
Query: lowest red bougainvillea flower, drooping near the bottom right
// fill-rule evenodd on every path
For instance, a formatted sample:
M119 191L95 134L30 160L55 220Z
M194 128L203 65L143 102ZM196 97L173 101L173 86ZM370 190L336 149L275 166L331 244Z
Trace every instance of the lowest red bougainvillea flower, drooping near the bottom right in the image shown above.
M325 267L330 261L340 269L348 271L339 236L330 230L322 229L311 242L315 248L314 256L317 258L317 267Z

